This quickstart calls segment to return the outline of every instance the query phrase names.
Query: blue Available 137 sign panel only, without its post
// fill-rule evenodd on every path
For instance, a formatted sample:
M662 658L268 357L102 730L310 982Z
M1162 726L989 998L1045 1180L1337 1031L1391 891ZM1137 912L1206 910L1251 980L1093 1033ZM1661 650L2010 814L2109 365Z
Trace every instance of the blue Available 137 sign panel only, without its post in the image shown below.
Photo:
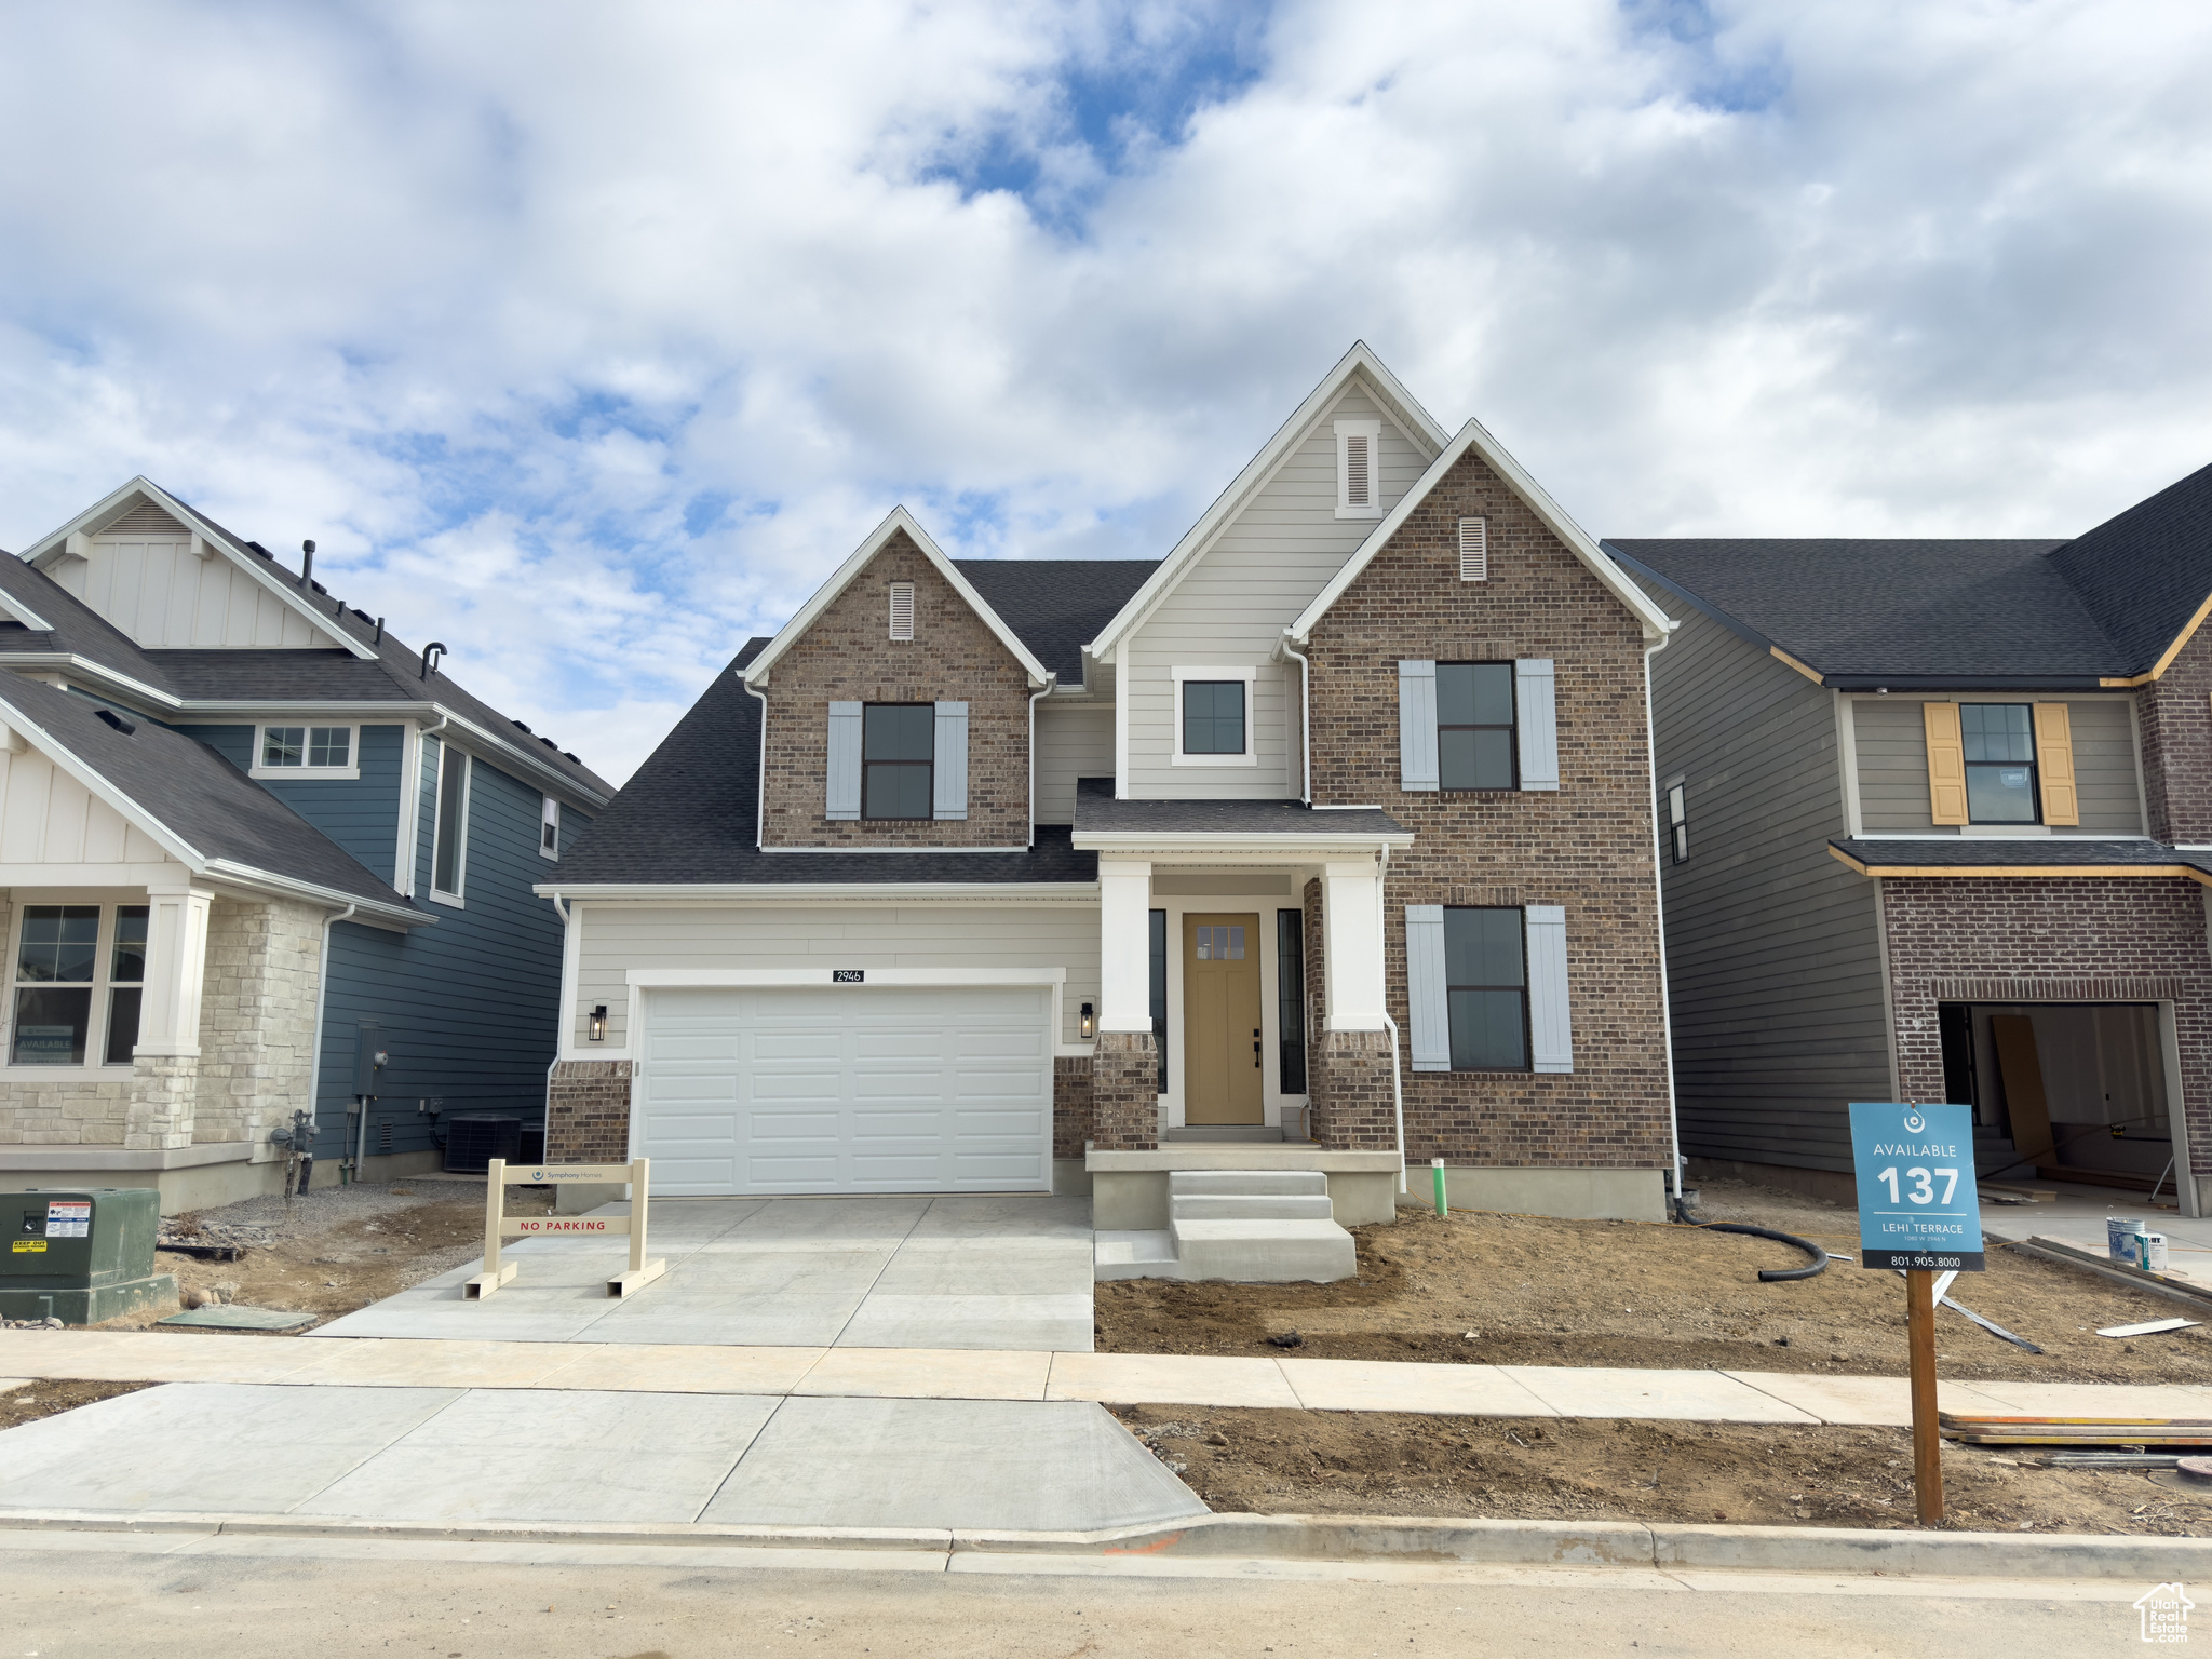
M1851 1106L1858 1265L1982 1272L1971 1106Z

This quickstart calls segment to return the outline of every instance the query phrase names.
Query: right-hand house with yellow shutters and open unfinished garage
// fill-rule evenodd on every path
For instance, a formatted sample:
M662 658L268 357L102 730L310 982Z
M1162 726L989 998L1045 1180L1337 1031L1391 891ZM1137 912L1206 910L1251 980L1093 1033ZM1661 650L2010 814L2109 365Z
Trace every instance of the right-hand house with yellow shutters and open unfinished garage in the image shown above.
M1843 1199L1854 1099L2212 1203L2212 469L2073 540L1617 540L1655 664L1681 1133Z

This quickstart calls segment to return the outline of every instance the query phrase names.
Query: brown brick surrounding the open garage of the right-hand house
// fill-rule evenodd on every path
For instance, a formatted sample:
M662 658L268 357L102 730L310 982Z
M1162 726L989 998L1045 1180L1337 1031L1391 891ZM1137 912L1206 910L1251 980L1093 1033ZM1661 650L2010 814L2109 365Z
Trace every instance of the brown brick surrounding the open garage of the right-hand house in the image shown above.
M1882 878L1898 1088L1944 1099L1940 1002L2174 1004L2190 1164L2212 1175L2205 889L2181 878Z

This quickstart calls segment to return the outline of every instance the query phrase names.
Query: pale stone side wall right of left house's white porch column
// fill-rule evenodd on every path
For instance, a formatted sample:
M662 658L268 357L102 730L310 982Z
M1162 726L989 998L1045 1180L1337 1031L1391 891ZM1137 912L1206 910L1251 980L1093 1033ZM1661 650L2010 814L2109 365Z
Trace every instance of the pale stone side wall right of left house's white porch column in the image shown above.
M327 914L294 900L208 907L190 1144L261 1141L310 1108Z

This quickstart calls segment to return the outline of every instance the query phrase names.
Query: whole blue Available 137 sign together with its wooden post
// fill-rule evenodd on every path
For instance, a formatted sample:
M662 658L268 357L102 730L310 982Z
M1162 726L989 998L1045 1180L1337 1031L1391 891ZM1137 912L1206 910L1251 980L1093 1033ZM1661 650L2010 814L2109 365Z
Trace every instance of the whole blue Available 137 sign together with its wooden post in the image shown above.
M1933 1526L1942 1520L1936 1274L1982 1272L1973 1110L1854 1102L1851 1159L1858 1170L1858 1265L1905 1272L1905 1336L1913 1376L1913 1500L1920 1524Z

